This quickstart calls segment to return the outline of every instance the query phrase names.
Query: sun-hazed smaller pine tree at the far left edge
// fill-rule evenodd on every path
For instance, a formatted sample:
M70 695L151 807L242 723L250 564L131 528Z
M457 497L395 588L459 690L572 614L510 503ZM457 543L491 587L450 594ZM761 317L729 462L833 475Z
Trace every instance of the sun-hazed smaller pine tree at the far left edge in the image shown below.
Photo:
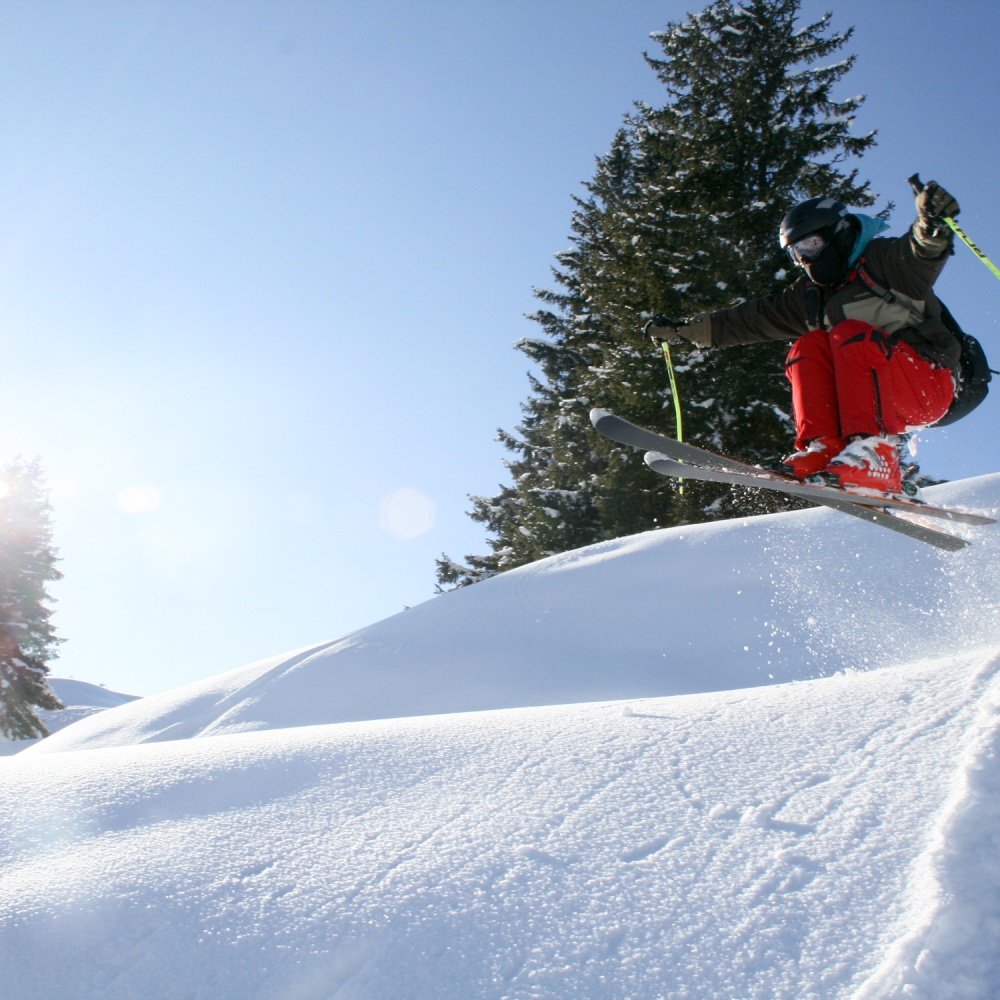
M51 508L38 462L0 471L0 734L47 736L34 708L62 708L48 685L57 638L46 585L62 574L52 547Z

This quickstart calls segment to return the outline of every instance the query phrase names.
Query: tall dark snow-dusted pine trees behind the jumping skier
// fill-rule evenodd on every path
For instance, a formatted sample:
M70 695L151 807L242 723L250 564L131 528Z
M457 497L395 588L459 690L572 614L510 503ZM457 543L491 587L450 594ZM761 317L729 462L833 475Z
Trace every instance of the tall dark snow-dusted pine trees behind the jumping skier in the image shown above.
M863 98L836 101L851 31L829 15L798 27L800 0L717 0L653 37L646 60L663 84L659 108L637 104L576 200L572 247L557 257L557 290L536 291L546 335L518 347L534 363L516 434L513 482L472 497L470 516L493 536L491 553L446 556L439 587L602 539L667 525L781 509L788 501L707 483L683 489L637 454L599 438L601 406L673 433L663 362L642 335L653 314L684 317L786 287L778 224L796 202L833 194L858 206L873 196L846 160L875 134L852 137ZM675 349L685 438L745 461L773 464L792 436L784 378L787 345L740 351Z

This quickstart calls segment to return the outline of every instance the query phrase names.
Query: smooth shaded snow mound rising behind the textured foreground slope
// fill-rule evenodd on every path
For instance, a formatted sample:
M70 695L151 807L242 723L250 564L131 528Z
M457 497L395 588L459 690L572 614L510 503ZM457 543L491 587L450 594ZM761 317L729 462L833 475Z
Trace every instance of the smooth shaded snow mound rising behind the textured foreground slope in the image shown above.
M1000 513L1000 474L927 492ZM732 690L1000 643L1000 532L949 530L975 544L944 553L812 509L593 545L26 752Z

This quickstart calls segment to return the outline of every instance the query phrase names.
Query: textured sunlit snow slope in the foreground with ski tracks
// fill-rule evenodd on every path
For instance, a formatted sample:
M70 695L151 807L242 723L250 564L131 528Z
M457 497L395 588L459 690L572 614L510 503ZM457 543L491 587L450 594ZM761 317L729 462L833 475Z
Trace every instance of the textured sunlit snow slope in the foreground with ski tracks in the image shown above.
M998 703L994 649L21 754L0 764L5 990L992 997Z

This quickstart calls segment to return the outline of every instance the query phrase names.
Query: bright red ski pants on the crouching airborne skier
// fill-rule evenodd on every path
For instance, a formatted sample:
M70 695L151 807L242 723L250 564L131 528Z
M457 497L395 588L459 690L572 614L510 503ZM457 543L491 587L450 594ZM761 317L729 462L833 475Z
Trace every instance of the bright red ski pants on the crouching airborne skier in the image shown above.
M902 434L940 420L955 395L947 368L870 323L813 330L788 352L795 445L818 437Z

